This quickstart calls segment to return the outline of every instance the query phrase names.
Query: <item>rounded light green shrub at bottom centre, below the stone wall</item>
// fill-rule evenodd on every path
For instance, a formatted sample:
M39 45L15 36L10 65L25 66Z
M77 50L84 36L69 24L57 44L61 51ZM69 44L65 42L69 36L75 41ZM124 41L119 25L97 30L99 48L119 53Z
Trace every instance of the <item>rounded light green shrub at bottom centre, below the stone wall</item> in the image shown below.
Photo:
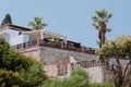
M86 72L76 69L71 73L71 77L62 80L45 82L40 87L87 87L88 78Z

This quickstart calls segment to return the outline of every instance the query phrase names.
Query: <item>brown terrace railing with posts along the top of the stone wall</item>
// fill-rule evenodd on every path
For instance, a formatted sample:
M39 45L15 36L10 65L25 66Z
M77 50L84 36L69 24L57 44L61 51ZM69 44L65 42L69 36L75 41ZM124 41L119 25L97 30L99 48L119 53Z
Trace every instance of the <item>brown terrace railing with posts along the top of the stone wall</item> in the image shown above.
M24 44L20 44L16 46L13 46L12 48L16 49L16 50L23 50L23 49L27 49L34 46L44 46L44 47L50 47L50 48L58 48L58 49L63 49L63 50L69 50L69 51L76 51L76 52L84 52L84 53L91 53L91 54L95 54L95 49L94 48L88 48L88 47L70 47L67 46L63 41L46 41L44 39L36 39L36 40L31 40Z

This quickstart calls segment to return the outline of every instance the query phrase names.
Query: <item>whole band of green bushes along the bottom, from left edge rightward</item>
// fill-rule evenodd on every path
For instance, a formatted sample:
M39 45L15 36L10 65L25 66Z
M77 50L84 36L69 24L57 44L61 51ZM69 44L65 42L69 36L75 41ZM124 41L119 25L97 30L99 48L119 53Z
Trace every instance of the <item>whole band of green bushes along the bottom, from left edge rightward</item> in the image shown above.
M111 83L92 84L85 71L78 69L63 80L51 80L43 65L10 48L0 39L0 87L115 87Z

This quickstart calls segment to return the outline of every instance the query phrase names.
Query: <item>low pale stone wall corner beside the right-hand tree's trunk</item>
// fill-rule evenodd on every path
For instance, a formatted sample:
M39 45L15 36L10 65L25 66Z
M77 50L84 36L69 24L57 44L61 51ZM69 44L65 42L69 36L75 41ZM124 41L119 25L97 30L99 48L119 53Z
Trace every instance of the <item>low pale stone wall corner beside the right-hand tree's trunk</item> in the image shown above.
M115 74L111 70L104 66L84 69L92 83L114 82Z

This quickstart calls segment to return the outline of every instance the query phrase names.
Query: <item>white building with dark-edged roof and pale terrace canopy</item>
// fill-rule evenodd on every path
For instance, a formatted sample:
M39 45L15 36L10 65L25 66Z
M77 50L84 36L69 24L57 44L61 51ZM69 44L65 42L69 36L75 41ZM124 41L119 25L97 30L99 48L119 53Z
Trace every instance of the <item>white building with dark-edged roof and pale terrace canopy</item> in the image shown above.
M44 29L32 30L16 25L0 26L0 37L3 37L11 46L44 38L60 38L66 41L67 36L47 32Z

